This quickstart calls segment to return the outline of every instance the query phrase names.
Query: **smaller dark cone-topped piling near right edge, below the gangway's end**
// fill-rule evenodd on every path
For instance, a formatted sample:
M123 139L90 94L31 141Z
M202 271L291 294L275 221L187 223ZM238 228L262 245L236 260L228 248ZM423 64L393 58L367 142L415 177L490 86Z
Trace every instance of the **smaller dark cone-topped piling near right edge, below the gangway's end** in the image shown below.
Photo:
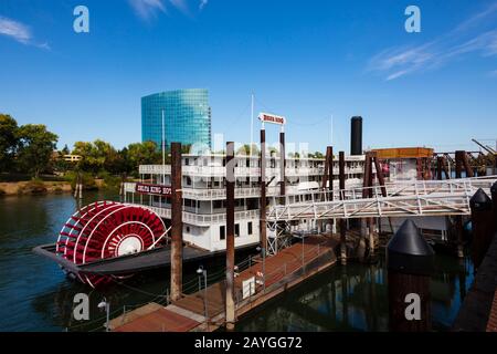
M487 194L479 188L469 200L472 209L473 226L473 264L477 269L487 253L491 239L494 238L495 222L491 200Z

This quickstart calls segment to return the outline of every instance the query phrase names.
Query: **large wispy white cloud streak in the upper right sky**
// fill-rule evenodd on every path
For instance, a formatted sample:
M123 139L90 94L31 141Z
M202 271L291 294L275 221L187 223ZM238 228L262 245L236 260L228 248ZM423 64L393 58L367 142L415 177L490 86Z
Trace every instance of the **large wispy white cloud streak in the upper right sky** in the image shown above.
M464 54L497 55L496 14L497 2L430 42L384 50L370 60L368 70L391 81L441 67Z

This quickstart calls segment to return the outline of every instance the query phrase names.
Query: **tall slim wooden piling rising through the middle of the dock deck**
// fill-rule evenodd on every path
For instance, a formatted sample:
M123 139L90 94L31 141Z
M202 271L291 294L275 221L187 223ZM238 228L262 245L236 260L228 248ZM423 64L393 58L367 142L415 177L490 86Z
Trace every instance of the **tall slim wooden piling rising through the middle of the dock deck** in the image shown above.
M234 329L234 143L226 143L226 330Z

